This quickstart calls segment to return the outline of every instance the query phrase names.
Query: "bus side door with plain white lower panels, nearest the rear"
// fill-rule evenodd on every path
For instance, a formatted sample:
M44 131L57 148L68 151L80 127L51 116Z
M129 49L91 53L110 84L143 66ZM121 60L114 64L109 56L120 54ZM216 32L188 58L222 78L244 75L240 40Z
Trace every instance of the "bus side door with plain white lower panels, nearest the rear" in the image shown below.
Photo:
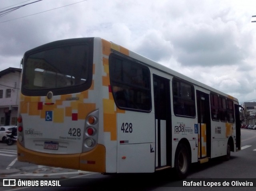
M153 75L156 130L156 168L171 166L172 131L170 80Z

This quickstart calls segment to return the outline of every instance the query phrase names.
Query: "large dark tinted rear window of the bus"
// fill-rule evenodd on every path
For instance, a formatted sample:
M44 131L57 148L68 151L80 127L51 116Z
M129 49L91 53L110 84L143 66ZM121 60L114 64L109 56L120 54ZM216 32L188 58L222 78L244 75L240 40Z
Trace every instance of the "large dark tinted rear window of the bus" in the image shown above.
M62 89L62 93L65 93L63 89L66 93L82 91L76 87L86 87L92 77L90 57L87 44L48 47L30 53L24 60L23 92L38 95L44 90L58 92ZM72 88L72 92L67 88Z

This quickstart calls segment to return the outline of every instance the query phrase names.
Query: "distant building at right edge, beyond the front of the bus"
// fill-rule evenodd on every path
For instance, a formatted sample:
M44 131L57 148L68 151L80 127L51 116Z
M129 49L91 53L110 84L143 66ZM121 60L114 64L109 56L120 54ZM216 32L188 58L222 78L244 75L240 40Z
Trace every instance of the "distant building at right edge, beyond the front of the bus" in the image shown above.
M244 102L245 120L243 124L256 125L256 102Z

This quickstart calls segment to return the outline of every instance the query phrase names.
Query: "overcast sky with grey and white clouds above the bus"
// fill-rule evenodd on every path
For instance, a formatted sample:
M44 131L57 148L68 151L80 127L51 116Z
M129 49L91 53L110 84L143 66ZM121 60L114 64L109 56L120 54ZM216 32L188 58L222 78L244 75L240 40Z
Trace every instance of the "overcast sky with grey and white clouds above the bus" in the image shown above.
M0 12L37 0L1 0ZM0 14L0 70L50 41L102 37L256 101L255 0L42 0Z

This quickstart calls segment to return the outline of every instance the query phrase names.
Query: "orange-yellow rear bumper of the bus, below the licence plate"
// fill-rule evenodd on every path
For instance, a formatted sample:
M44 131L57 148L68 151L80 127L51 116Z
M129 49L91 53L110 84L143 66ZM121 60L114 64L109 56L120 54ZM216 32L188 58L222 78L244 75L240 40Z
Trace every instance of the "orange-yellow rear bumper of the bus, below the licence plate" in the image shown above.
M97 144L93 150L81 154L48 154L26 149L17 141L17 154L18 161L21 162L82 171L106 172L106 149L100 144Z

